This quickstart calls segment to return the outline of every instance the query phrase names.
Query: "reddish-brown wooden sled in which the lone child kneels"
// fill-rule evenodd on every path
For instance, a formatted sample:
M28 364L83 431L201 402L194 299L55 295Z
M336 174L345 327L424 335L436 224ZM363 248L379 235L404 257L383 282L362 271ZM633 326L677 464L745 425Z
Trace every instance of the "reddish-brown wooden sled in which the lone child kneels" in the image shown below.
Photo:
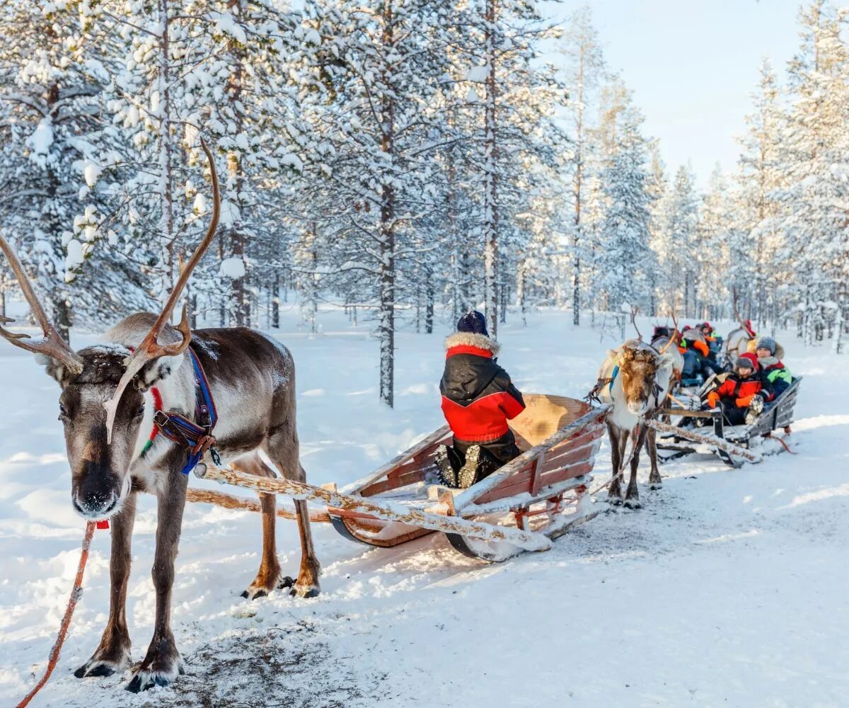
M593 408L576 399L545 394L526 394L525 402L526 410L510 422L524 452L468 490L448 489L437 482L436 447L450 444L452 439L444 426L341 492L429 516L462 518L505 532L529 531L557 538L598 513L592 511L588 484L607 406ZM563 513L573 502L573 513ZM329 506L327 512L341 535L375 547L397 546L441 530L434 528L438 524L429 528L402 523L350 507ZM446 535L458 552L488 561L506 560L526 550L496 538L448 530Z

